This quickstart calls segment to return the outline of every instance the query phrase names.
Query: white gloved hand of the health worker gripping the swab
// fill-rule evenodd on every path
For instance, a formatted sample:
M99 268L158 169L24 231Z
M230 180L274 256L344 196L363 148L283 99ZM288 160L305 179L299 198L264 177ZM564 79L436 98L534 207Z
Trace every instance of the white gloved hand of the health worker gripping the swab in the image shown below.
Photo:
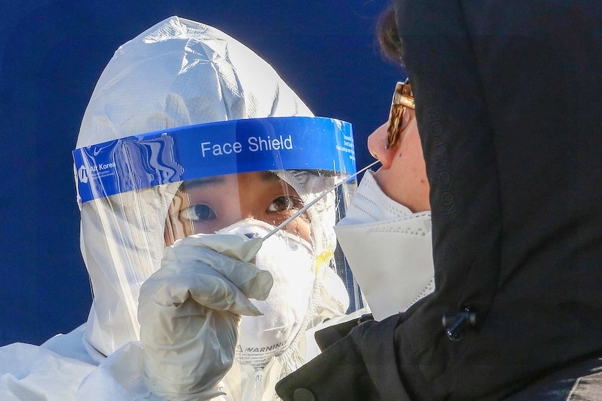
M144 347L142 377L167 400L208 400L234 361L240 315L261 312L272 275L248 263L258 239L197 234L166 250L161 268L142 284L138 305ZM244 261L244 262L242 262Z

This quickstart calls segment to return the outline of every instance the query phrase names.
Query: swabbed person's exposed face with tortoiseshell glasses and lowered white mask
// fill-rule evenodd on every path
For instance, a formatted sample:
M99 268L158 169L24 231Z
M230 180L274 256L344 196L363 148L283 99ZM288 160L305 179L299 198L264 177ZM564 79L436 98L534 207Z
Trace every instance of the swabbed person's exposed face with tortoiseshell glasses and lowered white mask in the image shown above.
M335 231L374 319L434 291L429 183L409 82L398 82L389 121L368 137L381 167L367 171Z

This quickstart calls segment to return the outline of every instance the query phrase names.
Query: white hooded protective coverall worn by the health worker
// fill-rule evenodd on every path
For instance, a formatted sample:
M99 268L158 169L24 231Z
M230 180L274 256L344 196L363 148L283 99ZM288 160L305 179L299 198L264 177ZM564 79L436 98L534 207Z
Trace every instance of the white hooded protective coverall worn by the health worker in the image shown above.
M263 59L237 40L204 24L170 17L115 52L91 96L76 147L192 124L270 116L313 114ZM0 348L0 400L161 399L141 377L136 314L140 285L163 257L166 211L178 185L140 190L145 191L140 197L144 203L132 204L121 194L115 203L82 204L81 250L94 290L89 318L39 347L15 343ZM131 209L143 218L126 219ZM105 221L107 215L116 223ZM332 213L323 225L332 227L334 220ZM117 241L125 231L131 243ZM324 237L325 242L335 241L334 232ZM122 264L116 266L119 260ZM315 282L314 315L305 319L303 330L342 315L348 305L336 273L330 268L322 272ZM294 346L304 350L303 336ZM256 372L235 362L222 382L226 395L219 399L274 399L274 384L287 371L282 365L272 358Z

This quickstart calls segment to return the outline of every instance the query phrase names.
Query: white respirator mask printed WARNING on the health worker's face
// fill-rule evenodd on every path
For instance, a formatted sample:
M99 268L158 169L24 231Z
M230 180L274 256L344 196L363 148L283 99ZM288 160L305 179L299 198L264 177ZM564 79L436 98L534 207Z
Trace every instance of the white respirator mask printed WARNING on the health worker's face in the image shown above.
M242 220L218 234L263 237L273 229L265 222ZM312 246L280 230L263 242L254 264L272 273L274 285L265 301L253 300L262 316L243 316L235 357L243 365L263 368L272 356L293 345L306 318L316 280Z

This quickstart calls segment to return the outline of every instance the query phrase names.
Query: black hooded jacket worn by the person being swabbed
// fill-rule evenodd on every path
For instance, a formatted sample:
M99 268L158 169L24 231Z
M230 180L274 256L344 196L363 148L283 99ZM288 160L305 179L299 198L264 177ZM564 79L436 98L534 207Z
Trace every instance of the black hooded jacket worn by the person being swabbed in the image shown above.
M277 392L602 398L602 3L394 10L431 188L436 289L358 324Z

